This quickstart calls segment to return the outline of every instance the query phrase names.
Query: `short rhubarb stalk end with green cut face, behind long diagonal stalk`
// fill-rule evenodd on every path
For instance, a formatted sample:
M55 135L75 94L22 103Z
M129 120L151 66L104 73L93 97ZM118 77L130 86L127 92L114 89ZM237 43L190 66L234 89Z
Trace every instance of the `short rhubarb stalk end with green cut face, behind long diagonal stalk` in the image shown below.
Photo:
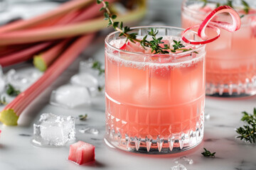
M33 58L34 66L42 72L46 71L50 64L52 64L60 53L63 52L63 49L68 45L68 42L70 42L70 40L64 40L63 42L51 47L46 52L41 53L41 55L36 55Z

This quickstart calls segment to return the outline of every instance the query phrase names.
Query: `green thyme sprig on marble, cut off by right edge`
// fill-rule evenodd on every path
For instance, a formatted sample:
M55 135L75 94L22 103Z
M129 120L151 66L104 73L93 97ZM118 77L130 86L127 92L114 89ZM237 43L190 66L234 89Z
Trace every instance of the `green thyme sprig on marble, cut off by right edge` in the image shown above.
M243 116L241 120L247 125L235 130L240 136L240 140L245 140L245 142L255 143L256 142L256 108L253 109L253 114L247 112L242 112Z

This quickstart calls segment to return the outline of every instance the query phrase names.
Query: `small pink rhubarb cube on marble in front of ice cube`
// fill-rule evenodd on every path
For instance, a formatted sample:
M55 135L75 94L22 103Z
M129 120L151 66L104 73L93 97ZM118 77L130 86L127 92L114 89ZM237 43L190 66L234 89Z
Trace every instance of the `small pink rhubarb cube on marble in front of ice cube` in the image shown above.
M82 141L70 145L68 160L80 165L95 161L95 146Z

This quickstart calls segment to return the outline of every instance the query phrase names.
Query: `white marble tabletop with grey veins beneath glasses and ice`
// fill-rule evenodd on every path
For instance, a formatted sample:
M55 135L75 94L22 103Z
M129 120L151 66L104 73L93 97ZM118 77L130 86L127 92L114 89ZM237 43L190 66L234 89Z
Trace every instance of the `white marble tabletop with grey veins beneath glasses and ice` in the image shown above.
M142 22L164 22L172 26L179 26L179 8L181 1L161 0L159 4L154 0L149 1L149 14ZM168 6L164 6L168 4ZM166 17L169 16L169 17ZM31 103L25 113L21 115L20 125L7 127L0 124L0 169L2 170L62 170L62 169L171 169L176 165L174 160L186 155L193 159L193 164L184 164L188 170L255 170L256 145L245 144L235 139L235 128L238 128L241 112L252 112L256 107L256 96L250 98L206 98L206 113L210 119L205 122L205 137L201 145L188 152L175 155L143 155L131 154L107 147L103 141L105 134L105 103L104 96L98 96L92 101L92 106L81 106L74 109L58 108L48 104L50 91L65 84L73 74L78 72L78 63L87 57L95 57L103 61L104 44L103 36L97 38L89 49L76 60L72 66L62 74L50 88L36 101ZM93 56L92 56L93 54ZM17 66L23 70L23 65ZM31 66L26 66L31 67ZM8 69L8 68L7 68ZM69 147L43 148L31 145L33 122L38 120L41 113L55 113L60 115L73 115L87 113L89 119L77 120L77 140L95 145L96 162L78 166L68 161ZM100 130L99 135L82 134L80 128L93 126ZM205 158L201 155L203 147L216 152L215 158Z

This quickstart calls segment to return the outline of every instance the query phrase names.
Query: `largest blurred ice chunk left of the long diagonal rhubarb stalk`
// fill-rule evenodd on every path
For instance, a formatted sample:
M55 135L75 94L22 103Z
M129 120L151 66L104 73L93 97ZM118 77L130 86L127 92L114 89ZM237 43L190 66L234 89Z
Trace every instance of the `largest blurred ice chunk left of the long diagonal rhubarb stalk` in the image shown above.
M31 70L28 72L16 72L15 69L10 69L6 74L6 81L16 89L24 91L42 75L43 73L38 70L33 70L32 72Z

